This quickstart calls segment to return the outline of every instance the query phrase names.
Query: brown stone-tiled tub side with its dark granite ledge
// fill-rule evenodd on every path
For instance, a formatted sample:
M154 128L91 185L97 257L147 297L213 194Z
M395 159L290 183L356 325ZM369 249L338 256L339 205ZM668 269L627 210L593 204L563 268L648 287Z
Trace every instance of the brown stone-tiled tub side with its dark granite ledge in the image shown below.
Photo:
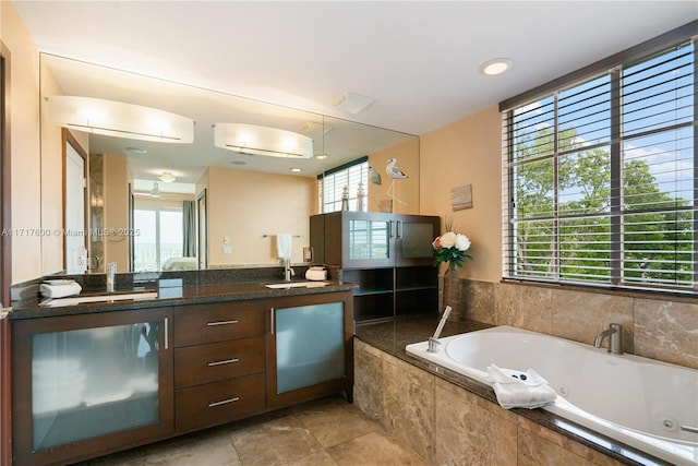
M436 324L359 326L354 342L354 404L429 464L664 464L542 409L503 409L490 386L408 356ZM444 336L486 326L449 322Z

